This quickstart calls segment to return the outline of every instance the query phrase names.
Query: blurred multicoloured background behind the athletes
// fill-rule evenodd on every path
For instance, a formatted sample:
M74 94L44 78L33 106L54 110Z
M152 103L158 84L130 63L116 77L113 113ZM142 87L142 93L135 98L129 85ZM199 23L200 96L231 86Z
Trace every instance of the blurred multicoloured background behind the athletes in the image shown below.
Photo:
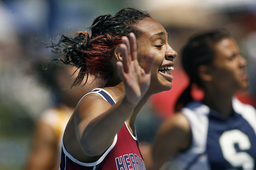
M24 169L36 121L54 107L52 91L38 80L38 63L52 56L44 43L56 34L73 36L88 30L95 17L121 8L147 10L169 34L178 54L187 38L199 31L226 28L248 61L250 87L238 98L256 107L255 0L2 0L0 1L0 169ZM150 143L161 122L187 85L176 59L172 90L152 96L136 122L138 139ZM40 64L39 64L40 65ZM46 67L47 65L40 65Z

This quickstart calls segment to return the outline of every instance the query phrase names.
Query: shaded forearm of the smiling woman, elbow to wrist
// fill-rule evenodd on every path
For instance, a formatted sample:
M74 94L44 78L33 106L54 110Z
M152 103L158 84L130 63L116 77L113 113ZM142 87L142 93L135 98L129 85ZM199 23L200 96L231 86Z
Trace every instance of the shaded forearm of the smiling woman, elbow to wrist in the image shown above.
M108 111L92 119L86 128L80 130L80 144L83 151L88 156L96 156L107 150L135 106L124 98Z

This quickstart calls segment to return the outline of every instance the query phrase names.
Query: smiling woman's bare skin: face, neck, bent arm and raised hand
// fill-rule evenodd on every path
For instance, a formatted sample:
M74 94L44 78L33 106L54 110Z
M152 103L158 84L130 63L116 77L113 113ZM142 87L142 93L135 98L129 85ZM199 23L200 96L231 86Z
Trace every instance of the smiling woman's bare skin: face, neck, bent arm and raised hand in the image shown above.
M71 117L63 144L82 162L94 162L110 147L114 136L126 122L135 134L134 122L147 99L154 93L172 88L173 76L159 71L174 65L177 53L168 45L168 35L159 22L144 18L136 27L140 36L122 37L112 56L115 73L103 89L116 104L111 106L98 94L85 96ZM110 85L111 84L111 85Z

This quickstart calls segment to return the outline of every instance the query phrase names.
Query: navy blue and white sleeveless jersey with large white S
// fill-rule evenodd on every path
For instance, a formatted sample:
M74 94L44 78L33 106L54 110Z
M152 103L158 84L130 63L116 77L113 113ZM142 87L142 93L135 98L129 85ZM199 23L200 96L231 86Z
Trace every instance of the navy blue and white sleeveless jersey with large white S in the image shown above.
M228 118L197 101L182 109L192 140L176 157L181 169L256 169L256 110L236 98L232 106Z

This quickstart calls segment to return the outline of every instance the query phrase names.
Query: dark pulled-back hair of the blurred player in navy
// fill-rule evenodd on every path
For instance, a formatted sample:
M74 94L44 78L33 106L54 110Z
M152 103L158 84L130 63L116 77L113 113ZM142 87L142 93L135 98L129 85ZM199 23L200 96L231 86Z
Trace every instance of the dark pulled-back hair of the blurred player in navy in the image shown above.
M199 88L203 87L197 72L198 66L211 65L216 55L214 51L215 44L227 37L232 38L231 34L225 29L211 30L190 37L184 45L181 52L181 62L190 82L176 102L176 111L179 111L187 103L193 101L193 97L191 96L191 87L193 84L196 84Z

